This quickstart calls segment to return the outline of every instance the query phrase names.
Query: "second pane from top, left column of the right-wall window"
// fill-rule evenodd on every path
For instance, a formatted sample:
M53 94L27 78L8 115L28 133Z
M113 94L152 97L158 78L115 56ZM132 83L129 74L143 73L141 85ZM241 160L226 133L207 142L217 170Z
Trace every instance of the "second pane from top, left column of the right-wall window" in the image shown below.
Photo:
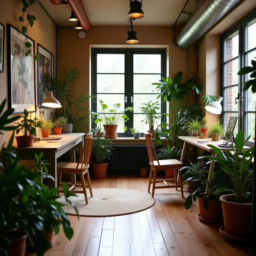
M225 64L225 87L238 84L238 58Z

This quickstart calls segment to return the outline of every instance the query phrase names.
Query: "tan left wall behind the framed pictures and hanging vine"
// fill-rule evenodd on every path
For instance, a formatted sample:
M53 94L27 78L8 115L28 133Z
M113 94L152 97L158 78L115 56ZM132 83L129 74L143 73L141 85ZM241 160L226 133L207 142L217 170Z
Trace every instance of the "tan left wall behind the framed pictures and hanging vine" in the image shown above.
M56 60L56 26L47 16L44 10L36 2L36 5L31 7L31 14L36 16L36 21L32 28L29 27L28 36L35 40L35 50L37 50L37 43L44 46L47 50L54 54ZM20 0L1 0L0 3L0 22L5 25L5 52L4 52L4 73L0 73L0 102L7 98L7 26L11 24L14 27L21 29L22 22L19 22L19 16L22 15L22 3ZM55 63L56 67L56 63ZM55 68L56 70L56 68ZM37 88L37 61L36 61L36 88ZM50 114L50 110L45 109L46 117ZM33 116L35 113L33 113ZM37 117L39 112L37 113ZM0 136L0 145L3 144L10 136Z

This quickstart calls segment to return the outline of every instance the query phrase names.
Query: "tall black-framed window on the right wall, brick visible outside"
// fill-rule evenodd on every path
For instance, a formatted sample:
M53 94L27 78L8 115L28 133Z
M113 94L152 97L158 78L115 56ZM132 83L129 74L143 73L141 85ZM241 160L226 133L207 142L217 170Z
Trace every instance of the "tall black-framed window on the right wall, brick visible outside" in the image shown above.
M221 35L221 93L223 120L227 127L230 116L238 116L235 135L243 130L245 137L255 135L255 94L251 89L243 92L243 83L248 76L238 76L238 71L251 66L256 58L256 14L250 13L242 21ZM242 97L239 100L235 98ZM237 104L236 104L237 102Z

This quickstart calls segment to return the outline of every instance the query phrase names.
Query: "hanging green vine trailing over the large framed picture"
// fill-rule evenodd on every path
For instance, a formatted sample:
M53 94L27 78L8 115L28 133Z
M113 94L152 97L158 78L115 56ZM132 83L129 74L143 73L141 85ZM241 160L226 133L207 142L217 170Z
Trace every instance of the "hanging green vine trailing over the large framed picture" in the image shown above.
M35 0L21 0L23 8L22 8L22 12L23 15L19 16L19 21L22 22L22 28L21 31L22 33L25 35L25 40L24 40L24 45L25 45L25 55L28 56L30 55L31 57L35 58L35 60L39 60L39 55L38 53L33 56L32 52L31 52L31 43L28 42L28 25L30 27L33 27L34 25L34 21L36 20L36 17L34 15L31 15L31 11L30 11L30 6L35 3Z

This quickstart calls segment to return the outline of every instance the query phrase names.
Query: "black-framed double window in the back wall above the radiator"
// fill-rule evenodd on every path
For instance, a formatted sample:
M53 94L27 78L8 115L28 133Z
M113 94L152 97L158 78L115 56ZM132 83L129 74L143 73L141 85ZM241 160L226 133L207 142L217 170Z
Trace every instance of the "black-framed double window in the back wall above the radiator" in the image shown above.
M163 99L157 100L161 92L152 86L161 77L166 77L165 63L165 49L92 49L92 94L97 95L92 103L92 111L99 111L99 100L110 108L120 103L120 110L133 106L133 112L126 112L129 115L129 121L125 123L127 131L123 130L124 124L119 124L118 134L131 136L131 127L144 133L149 128L148 124L141 122L144 119L141 103L159 101L159 115L166 112ZM164 122L164 118L162 115L161 119L156 120L157 124ZM93 122L92 126L95 126Z

